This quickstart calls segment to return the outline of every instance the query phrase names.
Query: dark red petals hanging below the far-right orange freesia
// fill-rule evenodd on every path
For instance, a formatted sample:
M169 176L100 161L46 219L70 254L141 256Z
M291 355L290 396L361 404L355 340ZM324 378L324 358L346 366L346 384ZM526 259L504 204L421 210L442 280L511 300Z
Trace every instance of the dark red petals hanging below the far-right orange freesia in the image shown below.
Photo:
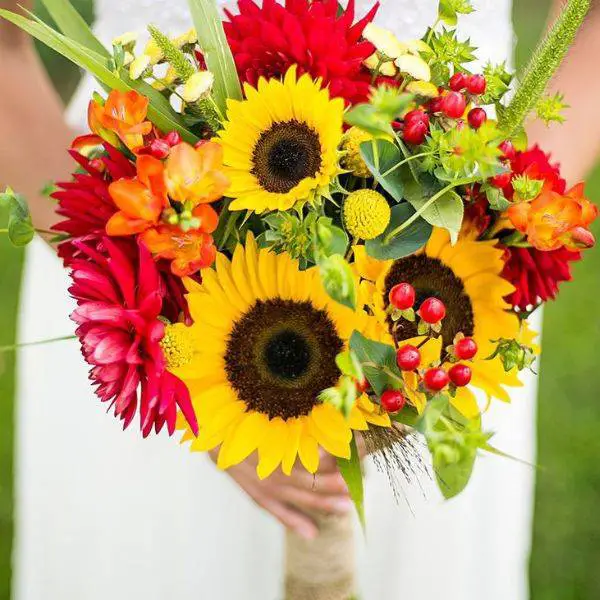
M571 263L581 259L580 252L566 248L543 252L535 248L506 248L502 276L515 286L507 301L520 310L553 300L559 284L571 281Z

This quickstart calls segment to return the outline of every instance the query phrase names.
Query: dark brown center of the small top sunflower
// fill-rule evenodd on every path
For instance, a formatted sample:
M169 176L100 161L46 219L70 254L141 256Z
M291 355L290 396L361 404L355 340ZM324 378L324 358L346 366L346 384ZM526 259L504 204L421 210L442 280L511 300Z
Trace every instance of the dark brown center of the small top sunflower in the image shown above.
M252 174L265 190L286 194L303 179L319 172L319 134L295 119L273 123L256 143L252 163Z

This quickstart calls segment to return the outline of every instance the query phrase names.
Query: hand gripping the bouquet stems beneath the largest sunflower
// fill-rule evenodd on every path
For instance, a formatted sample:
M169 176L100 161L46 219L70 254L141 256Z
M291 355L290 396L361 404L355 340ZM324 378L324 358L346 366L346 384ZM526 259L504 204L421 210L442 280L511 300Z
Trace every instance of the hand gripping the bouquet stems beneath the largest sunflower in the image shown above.
M210 453L216 461L217 451ZM282 525L306 539L314 539L319 530L307 513L321 511L344 514L352 510L348 488L335 459L321 456L315 476L295 467L291 476L277 470L267 479L256 475L256 459L251 457L227 470L231 478L260 506Z

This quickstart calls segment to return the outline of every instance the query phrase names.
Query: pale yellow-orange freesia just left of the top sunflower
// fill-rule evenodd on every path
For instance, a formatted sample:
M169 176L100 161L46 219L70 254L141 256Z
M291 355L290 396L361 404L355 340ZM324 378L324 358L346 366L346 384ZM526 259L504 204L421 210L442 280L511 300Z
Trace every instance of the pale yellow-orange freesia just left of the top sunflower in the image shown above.
M169 196L191 207L214 202L229 187L223 172L223 148L216 142L205 142L197 148L189 144L175 146L166 165Z

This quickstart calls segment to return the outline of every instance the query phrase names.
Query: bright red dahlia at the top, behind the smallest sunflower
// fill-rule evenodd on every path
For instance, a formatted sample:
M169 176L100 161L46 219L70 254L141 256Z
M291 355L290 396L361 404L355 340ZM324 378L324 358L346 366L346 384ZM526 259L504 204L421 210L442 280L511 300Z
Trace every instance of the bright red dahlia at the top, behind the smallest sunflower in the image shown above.
M375 47L362 39L379 3L354 23L354 0L340 10L338 0L239 0L239 15L226 11L224 23L235 63L244 82L282 77L291 65L298 74L322 77L332 96L347 104L365 102L370 72L363 66Z

